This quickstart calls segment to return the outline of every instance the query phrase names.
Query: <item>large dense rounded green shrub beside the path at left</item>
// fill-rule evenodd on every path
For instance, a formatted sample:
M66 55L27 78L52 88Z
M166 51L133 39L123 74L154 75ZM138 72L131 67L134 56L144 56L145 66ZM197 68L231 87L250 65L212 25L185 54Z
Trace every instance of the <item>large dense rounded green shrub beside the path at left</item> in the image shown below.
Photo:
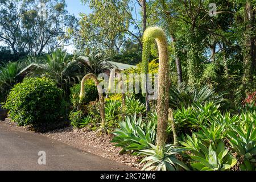
M11 89L5 108L19 126L45 125L61 116L62 93L48 78L25 78Z

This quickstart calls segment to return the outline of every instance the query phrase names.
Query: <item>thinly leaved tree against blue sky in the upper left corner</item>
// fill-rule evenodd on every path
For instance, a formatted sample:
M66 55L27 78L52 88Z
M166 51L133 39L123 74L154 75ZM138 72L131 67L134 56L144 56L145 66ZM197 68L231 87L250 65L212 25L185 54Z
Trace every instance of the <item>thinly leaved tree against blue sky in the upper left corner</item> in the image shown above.
M65 8L64 0L0 1L0 42L14 54L28 55L64 46L68 43L65 31L77 24Z

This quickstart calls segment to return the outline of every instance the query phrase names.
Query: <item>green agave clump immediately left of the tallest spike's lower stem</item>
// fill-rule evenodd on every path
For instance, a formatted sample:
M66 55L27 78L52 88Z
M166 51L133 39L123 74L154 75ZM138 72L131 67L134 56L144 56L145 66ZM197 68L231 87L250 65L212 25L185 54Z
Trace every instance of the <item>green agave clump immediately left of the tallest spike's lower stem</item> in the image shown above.
M117 147L123 148L120 153L127 151L137 152L150 148L150 143L155 142L156 122L145 123L142 118L126 117L125 121L119 122L120 129L115 129L112 142Z

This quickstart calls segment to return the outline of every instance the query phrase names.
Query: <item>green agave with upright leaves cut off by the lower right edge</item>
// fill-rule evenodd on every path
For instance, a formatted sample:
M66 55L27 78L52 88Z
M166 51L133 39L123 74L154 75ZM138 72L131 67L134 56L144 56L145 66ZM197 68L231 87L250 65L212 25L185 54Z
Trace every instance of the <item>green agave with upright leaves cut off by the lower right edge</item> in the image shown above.
M253 122L249 125L233 126L228 131L229 143L238 156L243 158L241 170L256 169L256 127Z

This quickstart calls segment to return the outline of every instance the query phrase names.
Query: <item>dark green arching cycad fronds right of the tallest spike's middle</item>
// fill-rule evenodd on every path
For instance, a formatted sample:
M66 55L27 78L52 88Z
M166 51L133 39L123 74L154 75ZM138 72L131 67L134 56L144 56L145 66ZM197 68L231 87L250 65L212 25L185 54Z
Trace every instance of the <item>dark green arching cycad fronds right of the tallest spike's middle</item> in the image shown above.
M213 101L215 104L224 102L223 96L226 93L216 93L214 89L208 88L207 85L202 88L190 88L186 85L180 85L178 88L170 89L169 104L172 108L188 107L194 103L204 104Z

